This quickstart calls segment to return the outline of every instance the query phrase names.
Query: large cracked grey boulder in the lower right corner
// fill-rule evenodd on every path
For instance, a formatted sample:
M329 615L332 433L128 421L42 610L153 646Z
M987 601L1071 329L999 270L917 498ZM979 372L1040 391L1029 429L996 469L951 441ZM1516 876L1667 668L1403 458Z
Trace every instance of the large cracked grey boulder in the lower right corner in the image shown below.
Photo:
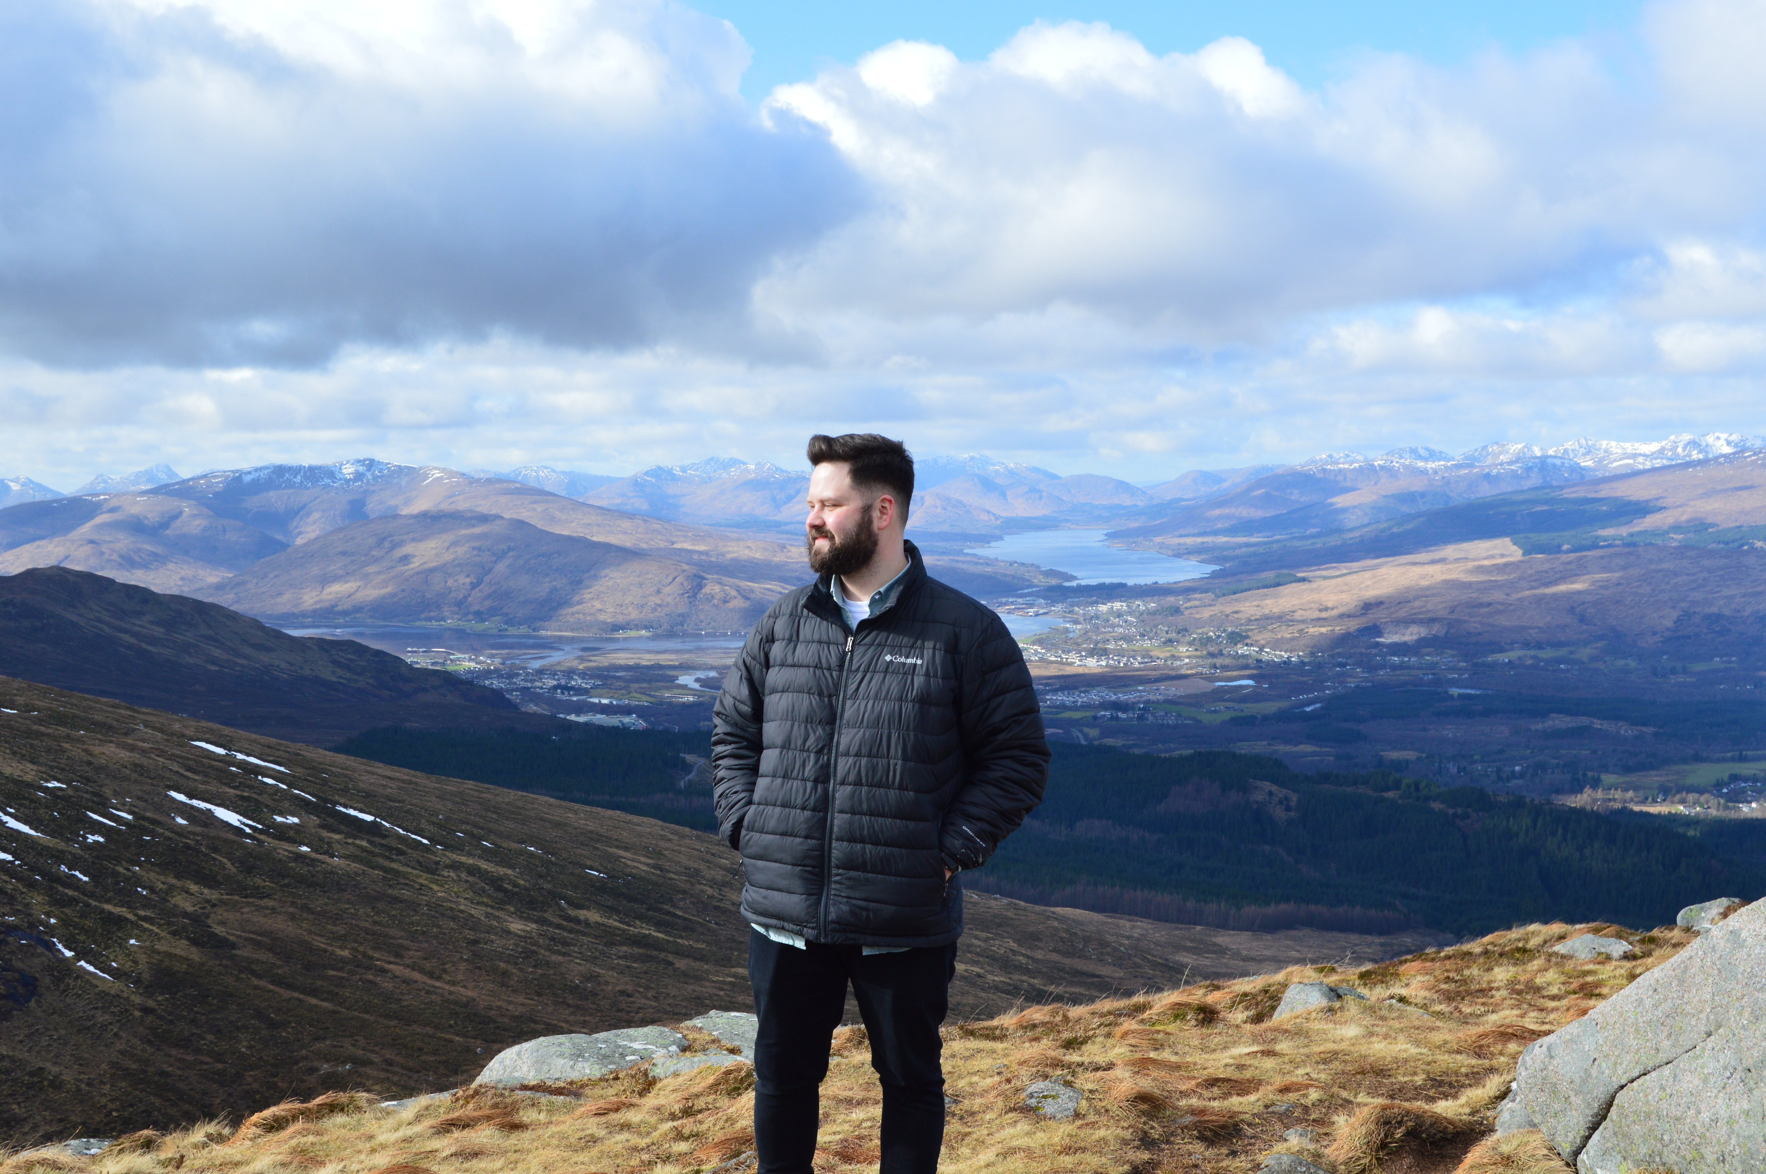
M1521 1054L1515 1100L1581 1174L1759 1169L1766 902Z

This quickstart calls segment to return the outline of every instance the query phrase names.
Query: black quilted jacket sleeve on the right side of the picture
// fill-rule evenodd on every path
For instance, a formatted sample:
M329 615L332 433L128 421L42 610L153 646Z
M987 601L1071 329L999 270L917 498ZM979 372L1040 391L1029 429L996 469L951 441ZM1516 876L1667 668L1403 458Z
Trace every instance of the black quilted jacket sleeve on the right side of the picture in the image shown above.
M977 869L1042 801L1049 741L1024 653L998 616L964 657L959 722L968 780L945 812L945 865Z

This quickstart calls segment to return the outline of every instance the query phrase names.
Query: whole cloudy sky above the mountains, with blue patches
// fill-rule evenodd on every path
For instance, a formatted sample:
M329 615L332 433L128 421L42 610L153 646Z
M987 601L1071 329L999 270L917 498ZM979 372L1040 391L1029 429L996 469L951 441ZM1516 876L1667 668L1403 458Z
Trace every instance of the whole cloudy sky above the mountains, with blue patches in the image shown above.
M0 477L1766 433L1766 0L0 4Z

